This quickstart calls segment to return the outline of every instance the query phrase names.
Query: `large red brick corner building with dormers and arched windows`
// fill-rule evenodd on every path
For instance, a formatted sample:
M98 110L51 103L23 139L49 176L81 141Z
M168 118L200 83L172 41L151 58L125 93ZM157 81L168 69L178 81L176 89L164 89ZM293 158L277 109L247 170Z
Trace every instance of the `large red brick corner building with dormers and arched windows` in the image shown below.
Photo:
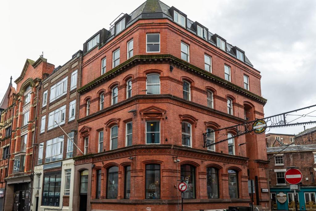
M177 210L180 179L185 210L248 206L248 179L254 204L270 207L263 135L203 147L206 131L264 116L260 72L243 50L148 0L83 53L73 210Z

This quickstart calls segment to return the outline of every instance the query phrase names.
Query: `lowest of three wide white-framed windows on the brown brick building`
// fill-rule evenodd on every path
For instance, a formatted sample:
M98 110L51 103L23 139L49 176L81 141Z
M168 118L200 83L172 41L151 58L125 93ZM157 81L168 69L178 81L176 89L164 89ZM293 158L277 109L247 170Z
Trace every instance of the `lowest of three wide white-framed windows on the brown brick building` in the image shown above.
M58 153L59 152L59 153ZM64 135L46 141L45 163L62 160L64 152ZM54 154L53 154L54 153ZM55 160L52 160L55 157ZM48 160L49 159L49 160Z

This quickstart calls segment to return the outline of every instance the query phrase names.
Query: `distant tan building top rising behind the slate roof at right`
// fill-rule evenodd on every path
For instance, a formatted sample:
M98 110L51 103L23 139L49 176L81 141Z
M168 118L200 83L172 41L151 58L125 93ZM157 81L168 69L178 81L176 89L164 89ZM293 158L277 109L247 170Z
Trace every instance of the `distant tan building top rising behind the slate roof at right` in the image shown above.
M285 146L294 142L295 135L280 134L280 133L267 133L265 134L265 140L267 147ZM295 140L296 142L296 140Z

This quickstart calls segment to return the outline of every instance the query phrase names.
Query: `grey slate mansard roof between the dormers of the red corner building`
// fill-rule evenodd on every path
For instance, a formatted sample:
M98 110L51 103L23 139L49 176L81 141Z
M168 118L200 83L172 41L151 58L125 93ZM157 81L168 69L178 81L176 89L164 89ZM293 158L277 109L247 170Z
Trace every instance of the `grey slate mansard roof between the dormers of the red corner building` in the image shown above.
M173 16L170 14L169 10L173 8L176 11L178 9L174 7L169 7L165 3L159 1L159 0L147 0L143 4L141 4L137 9L135 9L131 14L129 14L129 19L126 22L126 28L129 27L131 24L134 22L138 21L139 19L159 19L159 18L168 18L171 21L173 21ZM193 34L197 34L195 31L193 25L195 22L191 21L189 18L186 17L186 30ZM109 35L106 38L106 42L112 40L115 35L115 26L111 27L109 29ZM208 32L208 39L207 41L212 44L213 46L216 46L215 40L212 39L212 34L211 32ZM91 40L95 35L93 35L91 38L88 40ZM87 40L87 41L88 41ZM228 53L232 57L236 57L234 51L233 51L234 46L226 42L226 53ZM244 53L244 60L245 63L251 67L253 67L252 63L249 61L249 59L246 57Z

